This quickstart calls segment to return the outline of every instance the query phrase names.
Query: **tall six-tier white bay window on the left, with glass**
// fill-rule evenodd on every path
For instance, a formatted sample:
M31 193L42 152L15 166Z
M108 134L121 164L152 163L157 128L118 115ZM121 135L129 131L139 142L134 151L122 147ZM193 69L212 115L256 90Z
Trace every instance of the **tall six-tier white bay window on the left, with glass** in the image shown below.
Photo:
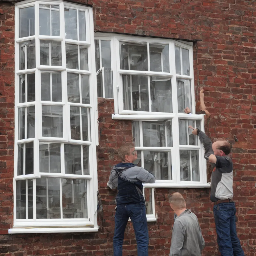
M58 0L20 2L15 24L9 233L97 231L92 8Z

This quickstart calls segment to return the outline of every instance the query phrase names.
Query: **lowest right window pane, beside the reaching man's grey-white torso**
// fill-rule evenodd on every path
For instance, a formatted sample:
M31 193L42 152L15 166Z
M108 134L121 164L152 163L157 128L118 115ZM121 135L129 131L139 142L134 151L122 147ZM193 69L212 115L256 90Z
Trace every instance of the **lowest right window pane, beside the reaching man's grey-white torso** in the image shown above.
M180 150L180 181L200 180L198 159L198 150Z

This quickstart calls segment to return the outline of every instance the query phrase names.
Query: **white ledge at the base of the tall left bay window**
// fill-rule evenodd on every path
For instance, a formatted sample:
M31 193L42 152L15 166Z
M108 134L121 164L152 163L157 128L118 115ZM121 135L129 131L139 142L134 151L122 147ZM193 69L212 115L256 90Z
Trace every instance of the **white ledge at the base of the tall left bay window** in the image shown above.
M98 228L10 228L9 234L98 232Z

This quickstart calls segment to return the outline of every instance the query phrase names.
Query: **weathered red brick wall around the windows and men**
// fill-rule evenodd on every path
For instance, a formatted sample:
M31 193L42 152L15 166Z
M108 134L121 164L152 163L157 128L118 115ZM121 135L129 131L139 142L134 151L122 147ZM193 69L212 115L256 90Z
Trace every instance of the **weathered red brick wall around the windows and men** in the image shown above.
M78 1L77 1L78 2ZM79 2L87 2L80 0ZM97 31L201 39L194 45L194 76L206 88L212 139L233 144L237 231L246 255L256 255L256 2L239 0L89 1ZM131 123L113 121L113 100L99 99L98 180L103 218L93 234L8 235L13 212L14 6L0 5L0 255L113 255L114 193L106 187L116 150L131 141ZM235 141L236 140L236 141ZM238 140L238 141L237 141ZM148 223L150 255L168 255L173 213L166 200L174 189L156 189L158 219ZM203 255L218 255L209 189L175 189L198 216L206 241ZM2 234L2 235L1 235ZM136 255L128 225L123 255Z

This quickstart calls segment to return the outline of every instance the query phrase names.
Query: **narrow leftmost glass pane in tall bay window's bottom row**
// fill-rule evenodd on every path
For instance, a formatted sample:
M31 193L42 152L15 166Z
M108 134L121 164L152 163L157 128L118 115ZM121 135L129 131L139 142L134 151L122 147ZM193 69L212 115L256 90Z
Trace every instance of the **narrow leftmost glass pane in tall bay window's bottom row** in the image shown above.
M26 219L26 180L16 181L16 218Z

